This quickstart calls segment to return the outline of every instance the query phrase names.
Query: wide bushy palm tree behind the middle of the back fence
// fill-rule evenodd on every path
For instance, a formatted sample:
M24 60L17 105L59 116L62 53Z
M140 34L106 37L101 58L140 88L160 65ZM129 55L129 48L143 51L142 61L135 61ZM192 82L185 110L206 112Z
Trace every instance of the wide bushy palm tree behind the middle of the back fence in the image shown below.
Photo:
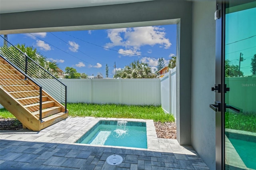
M141 79L141 78L155 78L156 75L152 73L148 63L142 63L139 60L126 65L120 70L119 77L124 79Z

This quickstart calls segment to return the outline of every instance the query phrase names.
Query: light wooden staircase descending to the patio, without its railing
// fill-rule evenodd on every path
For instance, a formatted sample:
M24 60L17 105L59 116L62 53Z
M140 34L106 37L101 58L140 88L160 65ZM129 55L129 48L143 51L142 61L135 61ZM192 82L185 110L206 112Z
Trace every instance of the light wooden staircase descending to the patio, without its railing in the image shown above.
M42 90L40 121L39 87L25 80L18 70L0 57L0 104L14 115L23 128L39 131L68 117L65 107Z

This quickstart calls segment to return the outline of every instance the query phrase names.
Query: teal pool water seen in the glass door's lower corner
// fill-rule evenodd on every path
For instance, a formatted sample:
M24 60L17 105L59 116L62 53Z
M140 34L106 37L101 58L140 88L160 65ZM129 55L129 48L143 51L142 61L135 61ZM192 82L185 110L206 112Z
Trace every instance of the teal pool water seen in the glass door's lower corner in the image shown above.
M256 143L229 138L240 158L248 168L256 170Z

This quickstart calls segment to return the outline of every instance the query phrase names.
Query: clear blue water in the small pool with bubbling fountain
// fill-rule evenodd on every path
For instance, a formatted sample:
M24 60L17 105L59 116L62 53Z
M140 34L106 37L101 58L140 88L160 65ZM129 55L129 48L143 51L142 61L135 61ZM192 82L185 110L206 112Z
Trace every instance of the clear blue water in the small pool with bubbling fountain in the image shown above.
M147 148L146 123L99 121L76 143Z

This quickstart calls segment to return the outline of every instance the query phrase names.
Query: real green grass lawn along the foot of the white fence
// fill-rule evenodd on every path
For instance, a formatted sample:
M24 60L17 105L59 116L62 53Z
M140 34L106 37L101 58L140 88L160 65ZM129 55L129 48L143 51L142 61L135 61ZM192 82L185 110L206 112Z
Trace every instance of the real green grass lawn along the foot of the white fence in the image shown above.
M68 103L68 115L71 117L114 117L114 118L134 118L134 119L153 119L154 121L174 122L174 117L164 113L161 106L128 106L115 104L87 104L87 103ZM0 109L0 118L14 118L14 116Z

